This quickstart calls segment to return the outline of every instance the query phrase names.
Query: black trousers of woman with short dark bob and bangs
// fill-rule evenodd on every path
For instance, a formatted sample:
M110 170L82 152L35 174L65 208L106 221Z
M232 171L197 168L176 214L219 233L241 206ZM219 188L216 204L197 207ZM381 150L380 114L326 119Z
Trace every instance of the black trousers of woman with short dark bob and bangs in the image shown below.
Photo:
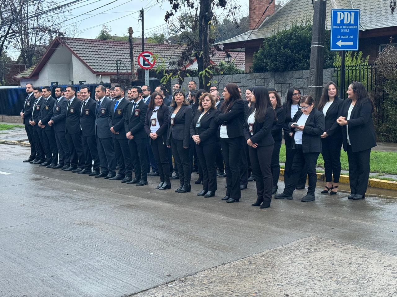
M170 137L172 154L178 167L179 181L181 185L190 185L192 167L189 158L189 148L183 148L183 140Z

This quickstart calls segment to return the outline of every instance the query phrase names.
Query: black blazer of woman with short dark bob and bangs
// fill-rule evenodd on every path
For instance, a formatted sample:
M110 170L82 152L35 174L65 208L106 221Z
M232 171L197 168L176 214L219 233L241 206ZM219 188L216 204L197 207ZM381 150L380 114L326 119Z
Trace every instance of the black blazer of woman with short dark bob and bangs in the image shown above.
M183 147L189 147L190 144L190 124L193 120L193 110L189 105L182 105L181 109L175 114L174 125L171 126L172 112L175 106L170 109L168 115L168 132L167 132L167 145L171 145L170 137L172 134L173 139L183 140Z

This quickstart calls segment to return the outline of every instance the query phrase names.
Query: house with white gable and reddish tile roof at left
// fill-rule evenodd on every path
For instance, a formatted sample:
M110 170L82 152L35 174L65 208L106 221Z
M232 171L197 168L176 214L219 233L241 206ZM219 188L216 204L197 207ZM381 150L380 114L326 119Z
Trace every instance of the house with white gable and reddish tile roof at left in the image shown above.
M141 52L141 43L134 42L135 69L139 69L137 56ZM145 44L145 51L159 55L161 63L173 68L183 48L173 44ZM217 52L212 63L219 63L224 52ZM98 40L85 38L55 38L44 53L39 63L26 69L13 79L20 80L21 85L31 82L37 86L48 85L53 81L59 84L109 82L110 77L117 74L116 60L120 61L120 73L131 73L129 62L129 42L114 40ZM159 63L160 61L158 61ZM239 59L244 69L244 57Z

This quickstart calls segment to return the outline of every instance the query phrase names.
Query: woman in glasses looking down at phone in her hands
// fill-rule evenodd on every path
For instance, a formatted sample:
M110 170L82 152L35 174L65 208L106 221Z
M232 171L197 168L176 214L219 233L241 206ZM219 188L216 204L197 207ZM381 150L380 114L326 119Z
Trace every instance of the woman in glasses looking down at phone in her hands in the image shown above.
M308 202L316 200L314 190L316 189L317 174L316 164L321 152L320 135L324 133L324 114L314 108L312 96L301 98L300 111L295 114L289 123L292 135L292 149L295 156L292 163L291 178L285 185L284 192L274 196L276 199L292 199L292 193L297 185L299 175L305 167L309 175L309 186L307 195L301 201Z

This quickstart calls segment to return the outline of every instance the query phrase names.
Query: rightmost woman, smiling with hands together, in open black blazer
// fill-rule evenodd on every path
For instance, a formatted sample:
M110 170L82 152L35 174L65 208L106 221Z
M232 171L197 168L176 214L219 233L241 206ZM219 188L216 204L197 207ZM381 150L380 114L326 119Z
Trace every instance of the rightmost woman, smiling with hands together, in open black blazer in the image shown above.
M364 199L370 175L371 148L376 147L372 122L374 103L362 83L352 82L337 123L342 126L343 150L349 160L349 199Z

